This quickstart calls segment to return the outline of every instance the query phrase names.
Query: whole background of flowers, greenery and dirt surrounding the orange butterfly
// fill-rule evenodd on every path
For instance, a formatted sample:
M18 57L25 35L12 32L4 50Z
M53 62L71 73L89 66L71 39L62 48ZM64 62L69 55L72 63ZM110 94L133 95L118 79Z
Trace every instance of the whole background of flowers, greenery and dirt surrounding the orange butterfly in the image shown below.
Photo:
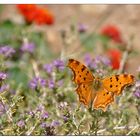
M139 42L140 5L0 5L0 135L140 135ZM136 84L87 109L69 58Z

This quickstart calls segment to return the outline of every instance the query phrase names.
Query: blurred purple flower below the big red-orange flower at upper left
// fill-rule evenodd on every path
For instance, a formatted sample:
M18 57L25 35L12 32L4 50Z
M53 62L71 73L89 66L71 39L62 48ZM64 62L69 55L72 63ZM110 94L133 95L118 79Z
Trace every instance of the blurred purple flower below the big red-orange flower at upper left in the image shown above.
M21 46L21 51L23 51L23 52L33 53L34 49L35 49L34 43L24 43Z

